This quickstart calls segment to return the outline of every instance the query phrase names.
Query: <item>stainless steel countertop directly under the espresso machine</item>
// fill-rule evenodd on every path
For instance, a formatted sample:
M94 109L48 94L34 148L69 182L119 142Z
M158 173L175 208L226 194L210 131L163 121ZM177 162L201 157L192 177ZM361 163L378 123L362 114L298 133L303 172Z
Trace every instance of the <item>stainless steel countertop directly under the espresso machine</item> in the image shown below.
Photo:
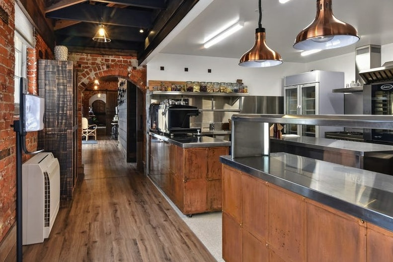
M183 137L183 138L170 138L163 135L158 135L153 132L148 132L149 135L161 139L170 144L176 145L181 148L200 148L200 147L230 147L231 142L212 138L208 136L195 136L195 137Z

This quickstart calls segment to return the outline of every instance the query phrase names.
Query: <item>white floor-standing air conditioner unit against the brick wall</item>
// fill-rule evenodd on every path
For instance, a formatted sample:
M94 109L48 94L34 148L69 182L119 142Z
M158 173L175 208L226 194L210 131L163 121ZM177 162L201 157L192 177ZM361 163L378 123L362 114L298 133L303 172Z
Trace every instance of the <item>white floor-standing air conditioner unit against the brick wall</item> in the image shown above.
M59 207L59 161L52 153L38 153L22 165L23 245L49 237Z

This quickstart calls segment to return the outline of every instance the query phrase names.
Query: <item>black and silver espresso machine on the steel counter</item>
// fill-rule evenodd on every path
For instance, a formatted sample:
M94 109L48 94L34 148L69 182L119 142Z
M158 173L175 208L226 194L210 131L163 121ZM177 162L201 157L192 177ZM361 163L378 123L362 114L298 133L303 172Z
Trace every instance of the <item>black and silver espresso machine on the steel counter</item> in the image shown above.
M164 100L158 107L158 132L175 135L198 133L200 127L190 127L190 117L198 116L199 110L196 106Z

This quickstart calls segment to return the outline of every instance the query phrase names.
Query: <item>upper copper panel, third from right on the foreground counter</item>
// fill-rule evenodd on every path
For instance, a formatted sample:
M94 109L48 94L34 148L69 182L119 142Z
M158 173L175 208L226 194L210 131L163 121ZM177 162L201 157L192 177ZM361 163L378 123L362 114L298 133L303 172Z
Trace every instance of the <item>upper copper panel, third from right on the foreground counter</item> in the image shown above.
M306 215L301 195L269 185L269 242L284 260L306 261Z

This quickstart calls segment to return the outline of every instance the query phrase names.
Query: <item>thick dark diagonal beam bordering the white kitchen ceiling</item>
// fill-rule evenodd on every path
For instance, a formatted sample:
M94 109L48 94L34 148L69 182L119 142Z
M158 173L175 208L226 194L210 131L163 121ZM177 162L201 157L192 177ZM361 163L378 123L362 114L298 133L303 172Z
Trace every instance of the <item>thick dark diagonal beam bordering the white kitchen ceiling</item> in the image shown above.
M141 64L162 40L175 28L183 17L194 7L199 0L172 0L165 12L159 16L151 32L148 35L144 50L138 52L138 64Z

